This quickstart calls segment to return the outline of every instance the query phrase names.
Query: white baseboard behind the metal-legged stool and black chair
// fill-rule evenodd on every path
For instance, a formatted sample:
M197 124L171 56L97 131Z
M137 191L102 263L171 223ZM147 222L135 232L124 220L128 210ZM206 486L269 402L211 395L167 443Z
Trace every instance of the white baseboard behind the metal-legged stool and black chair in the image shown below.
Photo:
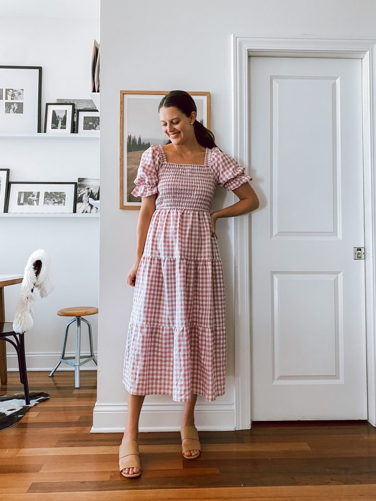
M59 352L45 352L45 353L26 353L26 367L29 371L52 371L55 365L58 363L61 351ZM67 357L74 357L74 352L66 352ZM81 355L89 355L89 353L83 352ZM94 353L95 358L98 359L96 353ZM8 353L7 354L7 368L9 371L18 371L18 360L17 354ZM96 370L97 366L90 360L85 365L80 366L80 371L93 371ZM74 367L67 364L60 364L57 371L74 371Z

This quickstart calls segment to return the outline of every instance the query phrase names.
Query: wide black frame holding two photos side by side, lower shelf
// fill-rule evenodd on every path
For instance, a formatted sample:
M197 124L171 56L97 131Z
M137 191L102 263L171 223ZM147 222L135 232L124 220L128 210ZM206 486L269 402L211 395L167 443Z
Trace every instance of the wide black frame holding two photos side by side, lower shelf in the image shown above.
M10 181L6 212L76 212L76 182Z

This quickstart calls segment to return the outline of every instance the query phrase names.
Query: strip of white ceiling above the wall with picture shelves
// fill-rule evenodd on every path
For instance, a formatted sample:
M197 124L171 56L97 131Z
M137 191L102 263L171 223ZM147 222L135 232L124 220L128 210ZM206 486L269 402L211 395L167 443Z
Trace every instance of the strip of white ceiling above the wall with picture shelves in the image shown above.
M0 0L2 17L32 16L37 18L99 19L100 0Z

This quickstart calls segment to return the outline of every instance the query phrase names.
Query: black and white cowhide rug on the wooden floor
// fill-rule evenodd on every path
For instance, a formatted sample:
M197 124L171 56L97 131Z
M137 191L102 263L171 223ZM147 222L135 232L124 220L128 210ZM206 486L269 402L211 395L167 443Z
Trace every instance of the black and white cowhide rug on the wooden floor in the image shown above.
M25 405L25 393L3 395L0 397L0 430L16 424L31 407L48 398L50 398L48 393L31 391L30 404Z

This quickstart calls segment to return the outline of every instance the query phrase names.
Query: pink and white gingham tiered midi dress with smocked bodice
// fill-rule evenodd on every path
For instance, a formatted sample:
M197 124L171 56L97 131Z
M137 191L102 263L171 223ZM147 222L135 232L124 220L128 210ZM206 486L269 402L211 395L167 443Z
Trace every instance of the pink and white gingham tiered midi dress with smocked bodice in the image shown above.
M210 208L217 185L252 180L218 147L204 165L167 162L162 146L142 153L132 194L157 193L134 287L123 383L133 395L225 393L223 267Z

